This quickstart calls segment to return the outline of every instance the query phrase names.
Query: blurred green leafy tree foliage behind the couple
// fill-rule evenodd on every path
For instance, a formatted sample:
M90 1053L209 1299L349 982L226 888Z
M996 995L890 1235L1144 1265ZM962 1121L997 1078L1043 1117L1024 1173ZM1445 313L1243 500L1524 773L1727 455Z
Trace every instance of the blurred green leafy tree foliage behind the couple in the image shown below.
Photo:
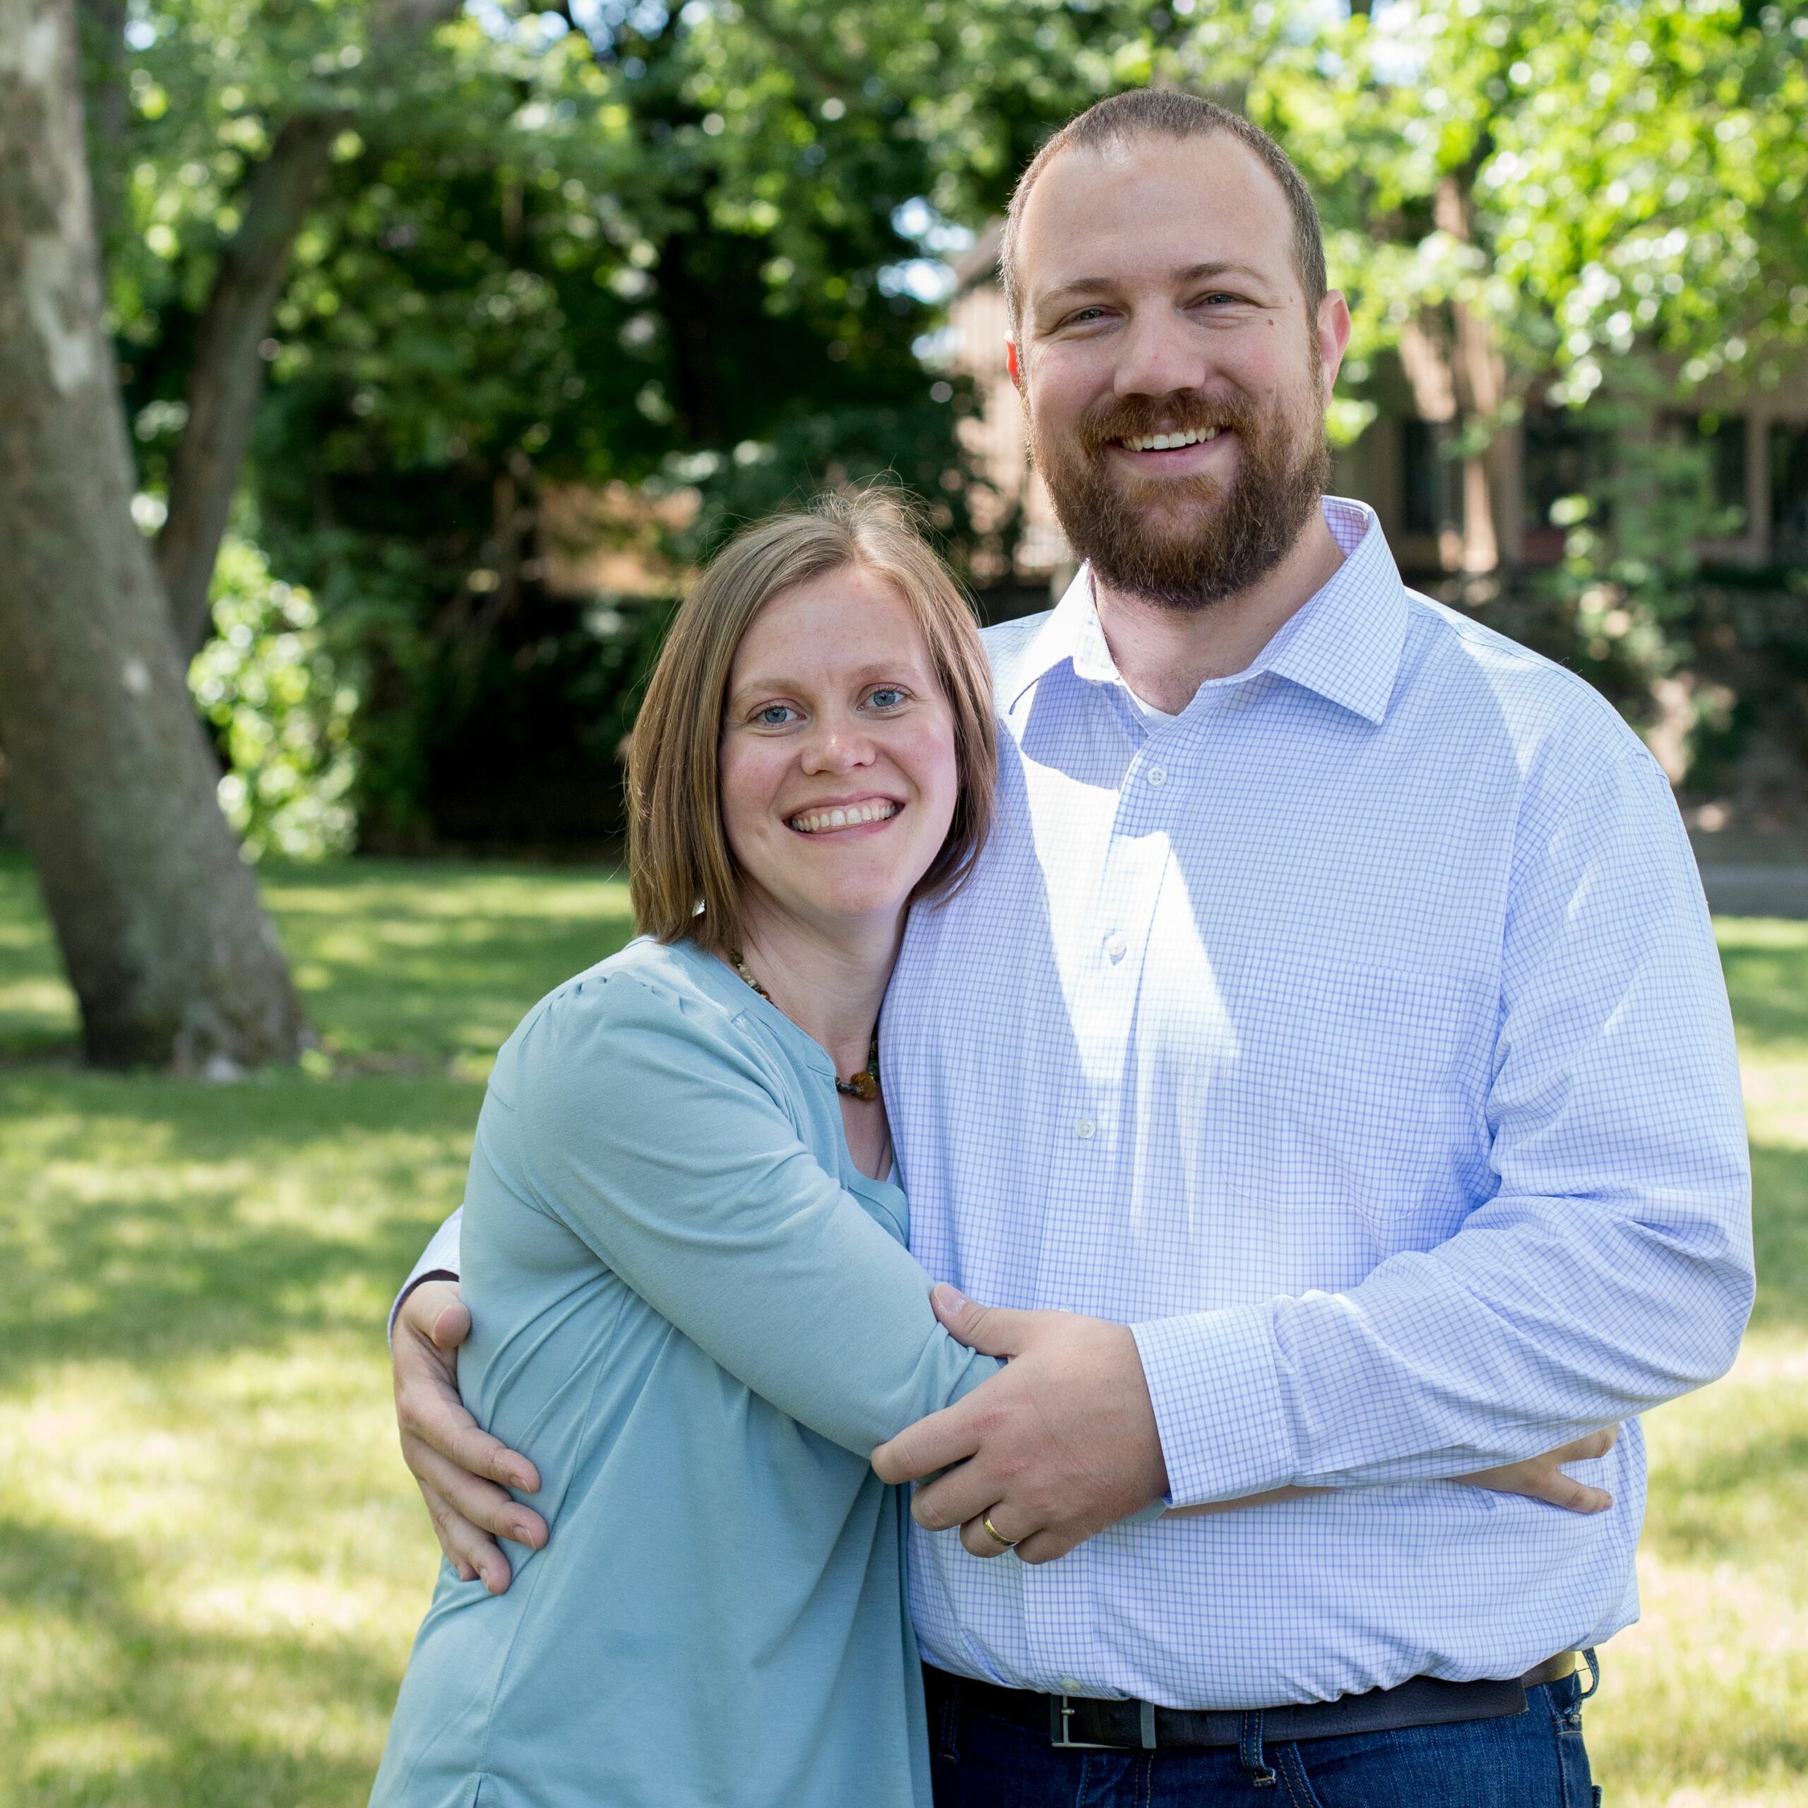
M1808 344L1804 0L470 0L400 63L389 0L85 5L148 519L251 179L287 121L334 127L237 528L309 591L356 700L318 783L367 848L617 824L660 609L548 582L560 486L651 528L640 602L738 519L882 472L933 501L958 564L996 562L956 432L973 387L940 369L949 260L1061 118L1146 81L1242 107L1313 183L1356 313L1338 438L1430 318L1508 371L1459 383L1452 459L1530 401L1595 405L1615 457L1578 476L1569 555L1504 626L1640 721L1654 683L1710 665L1703 781L1754 711L1799 711L1801 598L1777 622L1705 597L1705 450L1618 427ZM486 767L513 823L474 801Z

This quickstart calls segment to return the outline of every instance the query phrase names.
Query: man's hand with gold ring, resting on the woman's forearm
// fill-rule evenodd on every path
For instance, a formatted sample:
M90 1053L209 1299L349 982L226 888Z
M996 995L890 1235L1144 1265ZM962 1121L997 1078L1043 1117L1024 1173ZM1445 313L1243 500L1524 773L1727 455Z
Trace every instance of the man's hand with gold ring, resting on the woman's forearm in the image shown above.
M1011 1363L873 1452L888 1483L947 1470L917 1490L918 1526L960 1526L975 1557L996 1557L1005 1546L982 1524L991 1517L1023 1562L1045 1564L1168 1492L1143 1358L1125 1325L975 1305L947 1284L931 1298L962 1343Z

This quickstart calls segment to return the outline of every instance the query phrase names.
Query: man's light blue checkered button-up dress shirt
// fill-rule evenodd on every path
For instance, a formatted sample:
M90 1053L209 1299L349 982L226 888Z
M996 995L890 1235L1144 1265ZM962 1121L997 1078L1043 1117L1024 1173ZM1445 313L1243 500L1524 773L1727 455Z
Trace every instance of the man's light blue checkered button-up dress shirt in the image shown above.
M1266 1707L1510 1676L1636 1615L1633 1416L1752 1300L1732 1027L1663 774L1582 680L1401 584L1374 515L1154 725L1085 571L993 629L1000 824L882 1020L911 1248L1135 1327L1173 1499L1059 1562L917 1530L924 1656ZM1443 1481L1615 1421L1584 1519Z

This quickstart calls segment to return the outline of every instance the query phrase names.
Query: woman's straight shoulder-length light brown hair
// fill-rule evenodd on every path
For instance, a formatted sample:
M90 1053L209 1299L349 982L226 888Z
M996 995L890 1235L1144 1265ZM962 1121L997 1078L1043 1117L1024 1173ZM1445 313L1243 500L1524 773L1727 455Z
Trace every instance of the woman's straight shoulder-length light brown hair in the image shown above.
M772 515L716 553L660 649L627 752L627 871L635 924L712 953L741 940L741 879L721 823L721 718L754 617L783 589L861 566L909 604L955 716L955 819L913 897L946 899L991 828L993 680L973 607L895 490L824 495ZM698 913L698 904L703 906Z

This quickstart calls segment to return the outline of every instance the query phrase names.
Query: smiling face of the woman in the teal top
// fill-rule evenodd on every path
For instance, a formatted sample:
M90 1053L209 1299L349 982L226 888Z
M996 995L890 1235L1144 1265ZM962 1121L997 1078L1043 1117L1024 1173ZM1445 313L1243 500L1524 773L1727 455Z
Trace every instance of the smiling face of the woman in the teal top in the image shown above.
M955 716L904 597L862 566L779 591L734 654L721 814L752 917L890 926L955 815Z

